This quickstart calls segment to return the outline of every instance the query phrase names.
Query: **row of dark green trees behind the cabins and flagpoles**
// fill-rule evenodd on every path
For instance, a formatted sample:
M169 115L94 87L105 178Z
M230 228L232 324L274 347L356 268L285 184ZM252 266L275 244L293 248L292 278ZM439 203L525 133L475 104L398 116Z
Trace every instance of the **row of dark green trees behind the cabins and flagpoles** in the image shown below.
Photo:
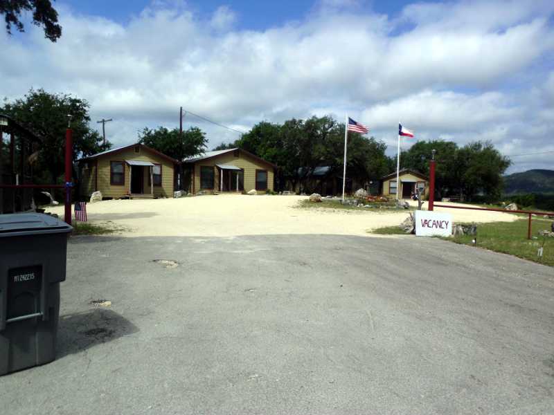
M0 113L12 116L42 137L33 161L34 171L39 172L35 177L37 183L63 182L64 136L69 113L73 115L74 160L111 148L111 143L103 142L98 131L89 125L89 103L68 94L31 89L24 98L13 102L4 100ZM138 135L139 142L177 160L197 156L208 148L206 133L197 127L182 133L177 128L145 127ZM342 176L344 124L330 116L292 118L283 123L262 121L234 142L214 149L234 147L278 165L276 189L284 190L287 181L303 185L310 180L316 167L330 167L330 174ZM386 149L386 144L375 137L348 133L346 176L364 183L395 172L396 156L387 156ZM402 151L400 167L428 175L433 149L436 150L438 197L455 195L471 201L481 194L490 199L501 196L503 174L510 166L510 159L502 156L492 143L476 141L460 147L452 141L418 141Z

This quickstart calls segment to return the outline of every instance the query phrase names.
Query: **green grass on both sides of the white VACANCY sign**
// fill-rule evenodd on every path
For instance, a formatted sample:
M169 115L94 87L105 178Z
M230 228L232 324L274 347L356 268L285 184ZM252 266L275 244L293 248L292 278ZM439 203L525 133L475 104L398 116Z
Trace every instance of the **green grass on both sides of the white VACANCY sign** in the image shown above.
M479 223L477 225L477 243L479 248L503 252L516 257L528 259L548 266L554 266L554 238L538 237L539 230L550 229L552 220L533 218L533 239L527 239L527 219L514 222ZM388 226L373 230L376 234L405 234L398 226ZM443 238L445 241L473 245L473 237L464 235L461 237ZM537 256L537 251L543 247L542 258Z

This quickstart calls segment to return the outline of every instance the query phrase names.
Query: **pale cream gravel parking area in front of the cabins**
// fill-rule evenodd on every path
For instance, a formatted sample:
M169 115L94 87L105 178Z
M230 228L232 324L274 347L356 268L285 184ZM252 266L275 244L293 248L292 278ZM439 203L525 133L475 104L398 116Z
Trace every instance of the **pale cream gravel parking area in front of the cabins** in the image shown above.
M263 234L366 235L368 230L400 224L406 211L307 210L305 196L206 195L181 199L116 200L89 203L94 222L111 221L129 237L233 237ZM446 211L438 208L437 211ZM49 208L63 215L63 206ZM498 212L449 210L458 222L513 221Z

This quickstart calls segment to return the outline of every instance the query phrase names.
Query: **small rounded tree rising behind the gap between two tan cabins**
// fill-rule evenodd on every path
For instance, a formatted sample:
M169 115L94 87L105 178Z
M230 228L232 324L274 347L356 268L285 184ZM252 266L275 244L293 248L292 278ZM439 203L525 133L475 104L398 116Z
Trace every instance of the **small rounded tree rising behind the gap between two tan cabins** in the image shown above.
M197 127L190 127L182 135L177 128L145 127L139 133L139 142L177 160L202 154L208 144L206 133Z

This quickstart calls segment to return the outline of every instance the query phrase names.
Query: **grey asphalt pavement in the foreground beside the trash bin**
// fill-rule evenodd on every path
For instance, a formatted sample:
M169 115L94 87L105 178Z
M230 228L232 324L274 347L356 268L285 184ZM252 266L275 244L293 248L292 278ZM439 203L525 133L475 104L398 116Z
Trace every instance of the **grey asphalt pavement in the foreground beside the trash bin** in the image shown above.
M553 306L553 268L437 239L74 237L0 412L553 414Z

